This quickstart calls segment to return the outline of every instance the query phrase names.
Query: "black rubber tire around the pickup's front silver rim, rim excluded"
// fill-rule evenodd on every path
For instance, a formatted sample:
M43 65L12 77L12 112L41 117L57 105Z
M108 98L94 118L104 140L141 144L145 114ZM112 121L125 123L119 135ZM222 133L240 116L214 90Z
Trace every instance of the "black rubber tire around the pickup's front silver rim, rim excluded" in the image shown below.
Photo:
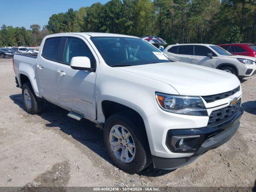
M128 116L129 118L126 118L126 116ZM104 125L104 143L111 160L118 168L132 174L140 172L152 163L152 157L144 124L142 125L142 123L138 122L139 121L136 120L136 117L133 118L131 115L121 113L111 115L106 120L106 123ZM134 159L129 163L125 163L119 160L110 146L109 134L111 128L114 125L124 126L126 130L130 132L134 140L136 152Z

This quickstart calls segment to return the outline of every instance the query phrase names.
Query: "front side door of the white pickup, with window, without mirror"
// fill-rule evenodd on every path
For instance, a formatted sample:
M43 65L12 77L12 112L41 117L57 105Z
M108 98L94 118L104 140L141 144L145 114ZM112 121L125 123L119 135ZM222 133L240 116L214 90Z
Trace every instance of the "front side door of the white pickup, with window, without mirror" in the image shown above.
M96 73L70 67L71 59L76 56L88 57L91 65L96 67L96 59L88 46L85 39L67 38L62 64L58 63L56 67L57 84L62 106L96 119Z

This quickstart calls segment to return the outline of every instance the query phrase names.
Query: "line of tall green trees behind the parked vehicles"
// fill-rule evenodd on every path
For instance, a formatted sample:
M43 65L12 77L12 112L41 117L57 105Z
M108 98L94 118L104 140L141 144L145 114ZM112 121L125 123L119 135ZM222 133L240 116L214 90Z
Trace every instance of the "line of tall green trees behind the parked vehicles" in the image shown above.
M0 46L39 45L61 32L107 32L160 36L176 43L256 43L256 0L110 0L53 14L48 24L3 25Z

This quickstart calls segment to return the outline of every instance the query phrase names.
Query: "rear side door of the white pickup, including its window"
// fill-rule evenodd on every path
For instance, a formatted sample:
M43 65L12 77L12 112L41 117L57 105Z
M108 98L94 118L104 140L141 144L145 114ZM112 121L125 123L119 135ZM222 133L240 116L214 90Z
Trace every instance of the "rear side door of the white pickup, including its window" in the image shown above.
M36 71L43 98L58 104L58 86L56 82L56 64L62 37L48 38L44 42L42 54L36 60Z

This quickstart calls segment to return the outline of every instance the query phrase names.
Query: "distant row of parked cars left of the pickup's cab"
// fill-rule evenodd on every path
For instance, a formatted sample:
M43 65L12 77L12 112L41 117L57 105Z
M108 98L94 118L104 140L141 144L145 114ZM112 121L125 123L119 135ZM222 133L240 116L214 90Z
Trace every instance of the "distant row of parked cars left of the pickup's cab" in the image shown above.
M15 53L38 53L38 50L31 47L0 48L0 57L2 58L13 58Z

